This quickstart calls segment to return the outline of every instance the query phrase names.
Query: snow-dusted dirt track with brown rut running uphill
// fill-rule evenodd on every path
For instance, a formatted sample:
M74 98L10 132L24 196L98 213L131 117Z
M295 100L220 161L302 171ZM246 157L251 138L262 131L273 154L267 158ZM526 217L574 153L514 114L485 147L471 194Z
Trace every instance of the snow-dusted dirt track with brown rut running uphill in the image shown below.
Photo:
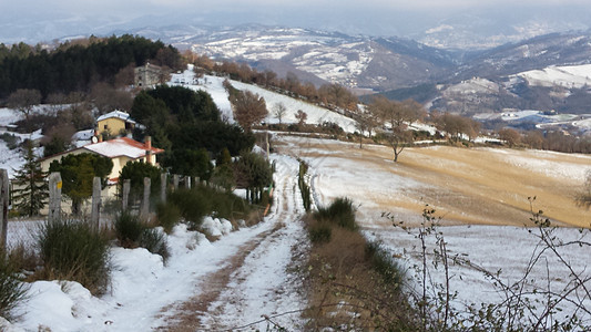
M279 159L275 174L275 204L264 225L220 269L197 280L202 291L182 303L164 308L162 331L251 331L273 322L300 323L305 308L299 274L292 269L305 259L306 237L300 221L305 212L296 185L298 163ZM257 230L259 229L259 230Z

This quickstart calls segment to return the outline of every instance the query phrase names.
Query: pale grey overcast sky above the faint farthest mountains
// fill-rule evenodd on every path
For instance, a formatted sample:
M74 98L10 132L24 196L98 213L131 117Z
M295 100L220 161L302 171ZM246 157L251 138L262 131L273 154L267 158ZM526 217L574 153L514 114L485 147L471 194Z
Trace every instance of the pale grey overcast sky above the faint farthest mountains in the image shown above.
M591 7L589 0L0 0L0 9L4 13L27 17L47 11L69 11L72 13L122 14L128 15L162 13L179 10L236 10L249 9L263 11L269 9L296 9L300 11L325 10L340 8L351 13L361 10L386 11L424 11L436 13L442 11L459 11L476 8L511 7L556 8L570 6ZM303 13L303 12L298 12Z

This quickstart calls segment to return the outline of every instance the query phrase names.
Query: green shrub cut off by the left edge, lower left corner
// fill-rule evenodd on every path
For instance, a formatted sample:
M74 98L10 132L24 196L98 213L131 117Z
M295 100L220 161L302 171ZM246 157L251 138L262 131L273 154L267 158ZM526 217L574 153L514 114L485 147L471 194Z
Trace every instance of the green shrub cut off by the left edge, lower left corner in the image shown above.
M27 300L28 284L17 278L17 269L0 251L0 317L11 319L11 312Z

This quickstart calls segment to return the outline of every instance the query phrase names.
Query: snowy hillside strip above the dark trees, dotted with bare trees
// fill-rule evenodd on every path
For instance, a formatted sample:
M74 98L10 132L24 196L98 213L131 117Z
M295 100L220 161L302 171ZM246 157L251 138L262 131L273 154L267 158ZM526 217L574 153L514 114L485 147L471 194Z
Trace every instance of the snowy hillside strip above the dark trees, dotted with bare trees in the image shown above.
M228 101L228 94L223 86L225 77L210 76L205 75L202 79L196 79L193 72L193 66L188 66L186 71L181 74L173 74L171 85L182 85L194 91L203 90L212 95L213 101L222 112L222 116L228 118L231 123L234 122L234 115L232 113L232 105ZM249 91L256 93L265 98L267 105L268 116L265 120L266 123L278 123L278 120L273 115L273 107L283 103L287 108L285 116L282 118L282 123L297 123L298 120L295 117L297 111L302 110L307 114L308 124L323 124L324 122L333 122L338 124L345 132L354 133L355 132L355 122L326 108L279 94L271 92L268 90L258 87L252 84L245 84L237 81L230 81L234 87L241 91Z

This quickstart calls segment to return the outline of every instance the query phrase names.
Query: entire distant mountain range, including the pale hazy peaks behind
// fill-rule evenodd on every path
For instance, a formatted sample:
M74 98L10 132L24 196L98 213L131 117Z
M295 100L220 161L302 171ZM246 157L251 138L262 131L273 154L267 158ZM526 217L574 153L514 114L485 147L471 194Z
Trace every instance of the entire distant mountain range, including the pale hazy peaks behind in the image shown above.
M414 39L261 24L149 24L157 20L140 17L88 21L64 17L51 22L40 19L30 25L0 23L0 40L7 34L22 35L24 41L39 40L68 30L70 34L63 41L88 35L84 31L98 25L92 28L98 34L132 33L160 39L181 50L246 62L281 76L292 72L315 85L335 82L360 94L412 97L441 111L473 114L534 108L591 113L588 84L577 83L587 82L589 68L584 65L591 63L591 32L584 30L587 25L581 20L519 21L508 17L506 21L491 21L463 14L424 24L430 28L409 33ZM179 17L177 21L190 20ZM31 29L38 30L32 33ZM542 34L564 29L583 30ZM560 77L560 71L539 74L561 66L581 69L574 70L574 75L570 71Z

